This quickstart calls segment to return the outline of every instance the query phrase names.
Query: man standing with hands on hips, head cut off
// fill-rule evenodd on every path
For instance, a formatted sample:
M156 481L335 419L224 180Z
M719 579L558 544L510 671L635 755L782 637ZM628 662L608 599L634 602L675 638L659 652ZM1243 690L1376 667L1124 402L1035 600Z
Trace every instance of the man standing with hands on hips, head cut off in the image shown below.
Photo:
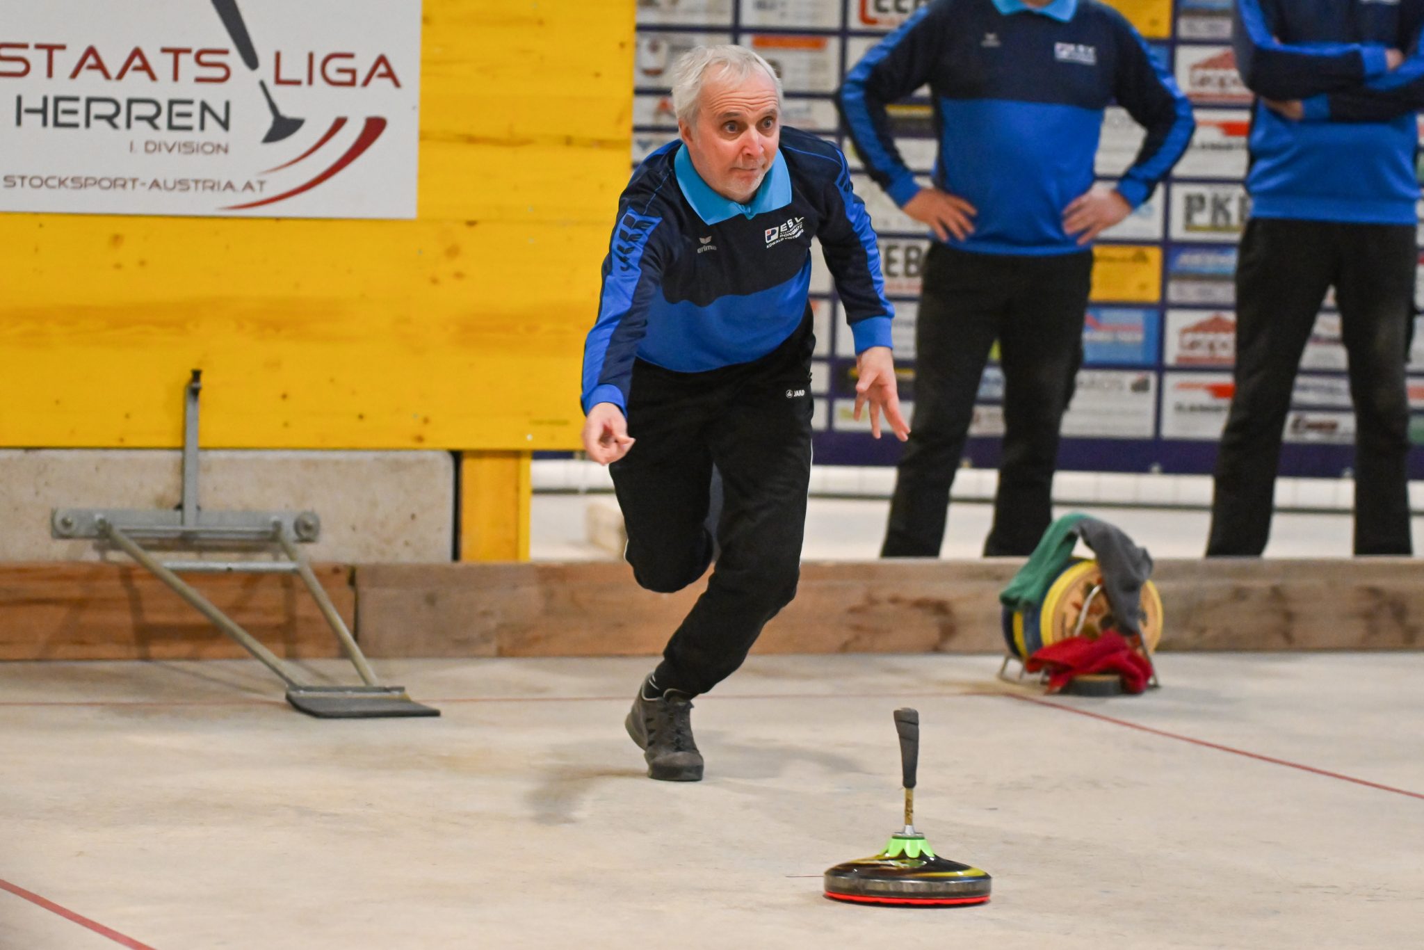
M940 155L921 188L886 105L930 85ZM934 0L871 48L839 94L876 182L934 229L916 322L914 433L884 557L938 557L950 486L997 339L1004 451L984 554L1030 554L1052 520L1058 432L1082 363L1089 245L1146 201L1195 122L1176 83L1092 0ZM1094 187L1104 108L1146 127L1115 188Z

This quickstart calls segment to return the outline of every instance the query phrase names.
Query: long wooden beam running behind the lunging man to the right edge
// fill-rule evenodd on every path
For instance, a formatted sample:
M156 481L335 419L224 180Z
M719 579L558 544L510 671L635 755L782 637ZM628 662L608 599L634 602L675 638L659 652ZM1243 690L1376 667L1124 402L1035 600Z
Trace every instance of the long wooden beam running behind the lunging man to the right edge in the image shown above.
M803 564L756 651L1004 652L998 591L1020 564ZM1411 558L1159 561L1162 648L1417 649L1421 573ZM362 565L357 624L373 657L651 655L703 587L651 594L615 563Z

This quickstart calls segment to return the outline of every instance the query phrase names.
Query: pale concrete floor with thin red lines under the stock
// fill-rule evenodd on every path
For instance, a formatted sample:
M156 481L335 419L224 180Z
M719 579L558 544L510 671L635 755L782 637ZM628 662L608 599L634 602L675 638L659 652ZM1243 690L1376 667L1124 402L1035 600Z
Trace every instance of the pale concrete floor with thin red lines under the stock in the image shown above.
M622 732L648 665L387 662L444 716L366 722L251 662L0 665L0 947L1418 946L1424 654L1047 701L991 657L756 657L698 701L696 785ZM984 907L820 896L897 826L900 705Z

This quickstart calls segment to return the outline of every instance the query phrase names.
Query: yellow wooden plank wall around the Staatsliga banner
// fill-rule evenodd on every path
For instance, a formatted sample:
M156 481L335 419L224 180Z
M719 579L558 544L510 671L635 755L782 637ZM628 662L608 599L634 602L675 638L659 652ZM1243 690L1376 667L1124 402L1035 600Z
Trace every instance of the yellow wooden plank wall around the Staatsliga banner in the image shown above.
M0 447L578 444L634 0L423 20L416 221L0 214Z

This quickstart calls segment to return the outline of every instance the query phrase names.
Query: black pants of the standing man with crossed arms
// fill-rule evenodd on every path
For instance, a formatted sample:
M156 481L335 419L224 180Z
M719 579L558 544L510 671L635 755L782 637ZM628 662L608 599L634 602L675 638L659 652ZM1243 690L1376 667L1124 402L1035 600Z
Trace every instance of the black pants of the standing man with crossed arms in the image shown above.
M1209 557L1266 547L1296 369L1331 285L1356 414L1354 553L1411 553L1404 363L1414 245L1408 225L1246 224L1236 268L1236 392L1216 457Z

